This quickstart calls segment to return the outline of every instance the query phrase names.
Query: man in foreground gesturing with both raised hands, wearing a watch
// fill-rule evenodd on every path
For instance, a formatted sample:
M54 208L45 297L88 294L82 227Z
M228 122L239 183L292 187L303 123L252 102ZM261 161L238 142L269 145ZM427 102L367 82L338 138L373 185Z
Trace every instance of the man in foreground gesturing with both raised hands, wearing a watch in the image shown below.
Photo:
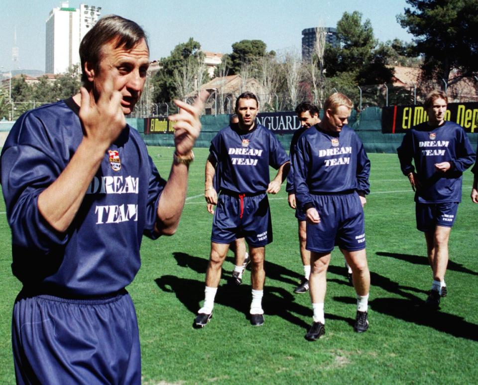
M202 95L176 102L175 151L162 179L126 124L149 65L144 31L107 16L80 44L83 87L23 114L1 153L13 274L18 384L140 384L136 314L124 287L143 234L172 235L199 135Z

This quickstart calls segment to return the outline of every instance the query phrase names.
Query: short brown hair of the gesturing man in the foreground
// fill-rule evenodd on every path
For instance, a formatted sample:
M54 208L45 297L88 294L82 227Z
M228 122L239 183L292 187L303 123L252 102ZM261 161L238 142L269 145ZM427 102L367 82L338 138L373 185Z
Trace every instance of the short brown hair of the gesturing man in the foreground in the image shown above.
M141 39L144 39L148 47L148 39L144 30L134 21L117 15L102 17L83 37L80 43L81 80L83 84L88 82L85 74L85 63L93 65L98 70L102 59L102 48L105 44L116 40L115 48L134 48Z

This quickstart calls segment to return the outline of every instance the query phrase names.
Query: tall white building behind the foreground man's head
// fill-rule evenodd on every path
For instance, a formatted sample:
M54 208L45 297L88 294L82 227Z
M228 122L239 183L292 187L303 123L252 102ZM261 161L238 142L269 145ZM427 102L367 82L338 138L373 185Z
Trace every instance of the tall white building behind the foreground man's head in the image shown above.
M59 74L80 63L80 41L100 17L101 7L80 4L80 9L63 1L46 20L45 72Z

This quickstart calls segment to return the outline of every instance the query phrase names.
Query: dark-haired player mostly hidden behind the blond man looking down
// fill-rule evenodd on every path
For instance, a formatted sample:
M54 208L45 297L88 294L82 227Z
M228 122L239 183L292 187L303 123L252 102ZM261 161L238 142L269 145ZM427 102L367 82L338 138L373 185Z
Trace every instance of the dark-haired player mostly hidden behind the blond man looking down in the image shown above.
M295 153L295 145L297 140L299 140L300 135L307 129L320 122L319 119L319 109L317 106L309 103L302 102L296 109L295 113L299 118L301 123L301 128L294 132L292 140L290 142L289 157L292 160ZM300 204L296 202L295 198L295 189L294 189L294 172L293 168L287 175L287 186L286 191L288 192L288 203L289 207L295 210L295 217L297 218L298 223L298 232L299 232L299 252L302 259L302 265L304 266L304 276L301 278L299 285L294 289L294 293L306 293L309 290L309 275L310 275L310 252L306 249L306 216L305 213L300 209ZM349 282L352 282L352 268L345 262L347 269L347 278Z

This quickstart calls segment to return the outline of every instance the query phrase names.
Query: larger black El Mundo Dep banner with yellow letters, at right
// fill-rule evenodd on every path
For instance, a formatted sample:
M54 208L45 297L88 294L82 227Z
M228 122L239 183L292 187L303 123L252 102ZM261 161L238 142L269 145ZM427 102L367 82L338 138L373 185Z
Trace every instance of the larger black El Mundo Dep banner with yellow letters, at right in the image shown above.
M478 103L448 103L445 120L458 123L467 132L478 132ZM401 133L428 121L423 106L391 106L382 109L382 132Z

